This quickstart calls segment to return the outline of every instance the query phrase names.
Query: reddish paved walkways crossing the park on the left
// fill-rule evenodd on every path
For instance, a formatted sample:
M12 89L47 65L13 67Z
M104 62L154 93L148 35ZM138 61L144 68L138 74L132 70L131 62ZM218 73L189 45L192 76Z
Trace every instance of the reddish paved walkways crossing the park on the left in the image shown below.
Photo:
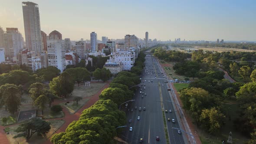
M93 82L95 83L95 82ZM89 99L89 101L86 102L85 105L82 106L82 108L80 108L77 112L75 112L75 114L70 114L69 111L67 110L66 107L63 106L63 112L65 114L64 118L52 118L52 119L46 119L49 121L53 121L53 120L63 120L65 121L65 123L55 132L55 133L60 133L60 132L65 132L66 128L69 126L69 124L72 121L77 121L80 117L80 115L82 114L82 111L86 108L91 107L93 104L95 104L96 101L98 101L99 99L99 95L101 94L101 92L105 89L109 87L110 82L108 81L106 85L104 85L95 95L92 95L90 97L87 98L83 98L83 99ZM59 103L63 103L66 101L70 101L70 100L56 100L53 102L53 105L58 105ZM28 105L28 104L26 104ZM12 124L12 125L8 125L8 126L0 126L0 144L10 144L10 142L8 141L5 132L3 131L4 128L8 128L8 127L12 127L14 125L18 125L18 124ZM52 144L50 142L51 137L49 137L49 139L44 143L44 144Z

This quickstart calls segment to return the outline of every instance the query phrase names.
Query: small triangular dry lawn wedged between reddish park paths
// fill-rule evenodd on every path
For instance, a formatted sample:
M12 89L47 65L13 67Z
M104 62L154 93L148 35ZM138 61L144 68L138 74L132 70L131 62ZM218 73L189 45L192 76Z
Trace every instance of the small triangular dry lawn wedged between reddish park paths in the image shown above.
M70 102L69 104L65 105L65 103L61 103L60 105L65 106L70 114L75 114L76 111L78 111L85 103L89 101L89 98L82 99L81 101L76 104L76 102Z

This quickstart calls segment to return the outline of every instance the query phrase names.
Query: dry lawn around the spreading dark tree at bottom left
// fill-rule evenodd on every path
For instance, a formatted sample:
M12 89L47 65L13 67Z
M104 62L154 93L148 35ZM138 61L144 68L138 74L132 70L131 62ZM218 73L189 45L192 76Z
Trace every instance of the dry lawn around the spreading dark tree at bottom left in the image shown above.
M46 137L37 136L37 134L35 133L32 135L29 142L26 141L25 137L13 138L15 135L18 134L15 132L15 130L16 128L19 127L19 125L15 125L13 127L5 128L5 131L10 133L10 134L7 134L7 138L10 144L43 144L46 142L46 140L49 137L51 137L55 133L55 131L57 131L62 126L62 124L65 123L65 121L49 121L49 122L51 124L51 129L46 134Z

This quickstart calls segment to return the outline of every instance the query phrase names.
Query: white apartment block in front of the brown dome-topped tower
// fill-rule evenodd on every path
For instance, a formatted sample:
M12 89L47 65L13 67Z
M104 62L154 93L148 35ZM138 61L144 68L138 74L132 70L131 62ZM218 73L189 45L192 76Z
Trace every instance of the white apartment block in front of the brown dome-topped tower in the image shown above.
M64 40L47 40L48 66L55 66L63 72L66 69Z

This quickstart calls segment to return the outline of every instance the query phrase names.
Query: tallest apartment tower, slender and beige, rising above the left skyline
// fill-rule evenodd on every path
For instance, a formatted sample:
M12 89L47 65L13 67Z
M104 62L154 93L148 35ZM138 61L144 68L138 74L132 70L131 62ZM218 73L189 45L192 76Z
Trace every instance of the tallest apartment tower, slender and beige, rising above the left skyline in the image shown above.
M38 4L22 2L25 28L26 48L30 52L41 52L43 49Z

